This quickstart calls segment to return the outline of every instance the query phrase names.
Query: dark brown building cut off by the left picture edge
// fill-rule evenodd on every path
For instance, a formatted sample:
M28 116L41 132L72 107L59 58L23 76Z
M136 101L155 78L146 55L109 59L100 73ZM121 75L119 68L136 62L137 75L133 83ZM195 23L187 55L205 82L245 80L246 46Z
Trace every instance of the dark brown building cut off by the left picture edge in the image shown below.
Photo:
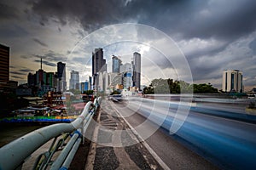
M0 44L0 86L9 82L9 47Z

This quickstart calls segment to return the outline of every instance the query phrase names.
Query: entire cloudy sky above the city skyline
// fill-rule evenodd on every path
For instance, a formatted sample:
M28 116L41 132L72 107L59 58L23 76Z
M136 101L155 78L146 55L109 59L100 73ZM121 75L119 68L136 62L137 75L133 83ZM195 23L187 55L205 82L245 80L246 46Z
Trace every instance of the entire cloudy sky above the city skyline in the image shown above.
M131 62L143 57L143 83L171 77L211 82L221 89L222 71L243 72L256 86L254 0L2 0L0 43L11 48L10 79L26 82L40 67L91 74L91 52L103 48ZM126 24L130 23L130 24ZM67 77L68 78L68 77Z

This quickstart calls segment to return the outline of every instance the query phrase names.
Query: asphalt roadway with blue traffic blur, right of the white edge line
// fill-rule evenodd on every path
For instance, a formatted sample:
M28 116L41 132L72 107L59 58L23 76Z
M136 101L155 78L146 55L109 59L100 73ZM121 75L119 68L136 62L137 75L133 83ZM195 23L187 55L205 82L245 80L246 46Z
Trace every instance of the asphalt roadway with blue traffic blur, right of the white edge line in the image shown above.
M167 103L110 102L171 169L256 167L255 124L221 116L227 111L217 107L220 116L207 114L212 110L204 107L189 111L186 105L178 108Z

